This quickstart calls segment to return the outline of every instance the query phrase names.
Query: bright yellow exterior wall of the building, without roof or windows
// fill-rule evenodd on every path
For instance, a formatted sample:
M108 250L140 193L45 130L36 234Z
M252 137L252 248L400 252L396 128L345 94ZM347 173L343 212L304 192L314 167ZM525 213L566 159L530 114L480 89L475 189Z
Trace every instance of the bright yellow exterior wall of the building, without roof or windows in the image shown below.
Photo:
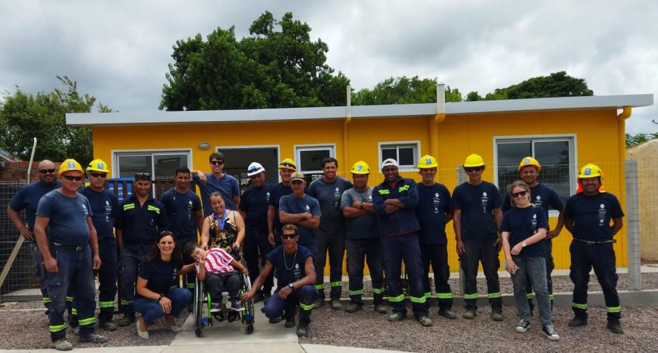
M279 145L281 158L293 157L299 144L334 143L340 174L350 178L349 170L359 160L377 169L380 141L420 141L419 155L430 154L430 125L428 118L372 118L354 119L347 125L347 161L343 159L343 120L295 121L277 123L221 123L190 125L152 125L94 127L96 158L113 161L111 150L190 148L192 167L208 169L207 158L214 146ZM578 167L597 163L603 169L606 189L618 196L625 205L620 166L616 110L558 111L537 113L479 114L447 116L439 123L439 162L437 181L452 190L457 185L457 166L467 155L478 153L485 159L487 169L483 178L494 180L494 136L575 134ZM210 150L198 150L199 142L212 143ZM540 161L541 162L541 161ZM416 171L400 173L405 178L420 180ZM381 173L372 173L369 184L382 181ZM551 227L556 218L550 219ZM625 266L625 230L617 236L617 264ZM456 271L457 256L454 232L448 225L450 265ZM556 268L570 265L568 247L571 235L563 230L554 240ZM501 252L501 260L504 259Z

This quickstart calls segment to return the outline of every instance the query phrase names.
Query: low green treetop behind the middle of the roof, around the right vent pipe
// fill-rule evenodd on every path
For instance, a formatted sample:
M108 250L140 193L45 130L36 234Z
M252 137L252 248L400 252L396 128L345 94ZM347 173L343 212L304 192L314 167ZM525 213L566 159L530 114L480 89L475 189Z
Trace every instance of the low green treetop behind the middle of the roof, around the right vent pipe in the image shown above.
M446 87L446 102L461 102L459 89ZM363 88L354 93L352 104L412 104L436 103L437 79L419 79L418 76L389 77L379 82L373 89Z

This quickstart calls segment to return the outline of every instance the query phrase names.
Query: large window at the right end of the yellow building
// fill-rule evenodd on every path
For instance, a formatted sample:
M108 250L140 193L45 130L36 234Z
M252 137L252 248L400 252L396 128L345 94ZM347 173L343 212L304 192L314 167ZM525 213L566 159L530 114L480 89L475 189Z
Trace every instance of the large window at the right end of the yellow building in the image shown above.
M519 180L517 168L521 159L532 156L542 165L539 181L552 187L566 202L576 186L574 139L574 136L494 138L494 174L501 193L506 194L509 185Z

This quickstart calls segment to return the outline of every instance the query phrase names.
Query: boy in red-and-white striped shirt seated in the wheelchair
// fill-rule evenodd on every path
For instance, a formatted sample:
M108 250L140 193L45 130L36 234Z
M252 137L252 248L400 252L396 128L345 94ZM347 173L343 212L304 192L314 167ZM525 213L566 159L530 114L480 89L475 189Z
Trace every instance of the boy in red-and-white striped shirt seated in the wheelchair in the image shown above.
M249 272L240 262L237 262L224 249L212 248L203 250L196 242L189 242L183 250L185 255L196 260L196 276L210 292L210 312L220 311L221 292L228 292L230 308L233 311L243 311L238 297L240 291L240 275L236 270L249 276Z

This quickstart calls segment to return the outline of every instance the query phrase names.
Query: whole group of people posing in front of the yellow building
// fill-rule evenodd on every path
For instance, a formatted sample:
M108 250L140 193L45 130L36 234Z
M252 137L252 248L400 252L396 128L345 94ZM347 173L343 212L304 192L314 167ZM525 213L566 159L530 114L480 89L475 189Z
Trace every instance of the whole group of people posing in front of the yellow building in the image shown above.
M295 327L299 310L297 334L306 336L312 309L327 301L327 254L331 308L348 313L362 309L365 262L372 279L374 310L389 313L390 306L389 321L403 320L407 315L401 279L404 262L416 320L432 325L430 265L438 313L455 319L448 284L446 225L450 221L465 275L464 319L477 315L476 276L481 264L491 318L503 320L497 272L503 249L503 266L512 276L521 318L515 330L526 332L530 326L534 292L543 333L559 340L552 322L551 239L565 227L573 235L574 318L569 326L587 324L587 286L593 268L604 292L607 327L623 333L613 236L622 228L624 214L617 198L604 191L603 173L594 164L581 168L579 188L566 205L556 191L538 182L542 166L533 157L522 159L521 180L512 183L506 197L496 185L483 180L485 162L478 155L466 158L463 168L468 179L452 194L435 181L437 160L430 155L418 161L419 183L402 178L395 159L384 160L384 180L376 187L368 185L370 167L363 161L352 166L350 181L336 175L338 161L327 157L322 160L322 178L308 187L292 159L281 161L281 182L273 185L265 183L265 168L253 162L247 170L251 187L242 195L237 180L224 173L224 164L224 155L216 152L210 155L210 173L178 168L175 186L159 201L150 194L150 173L136 173L133 194L119 203L105 189L109 170L101 159L86 170L73 159L66 159L58 171L53 162L40 162L39 181L18 191L8 214L29 242L42 281L52 347L72 349L65 337L66 311L79 342L107 341L95 333L94 271L100 283L98 327L107 331L135 323L139 336L148 338L148 324L159 317L164 317L168 329L180 331L173 318L191 303L194 275L187 276L187 289L171 288L171 284L178 284L178 276L189 272L202 280L212 279L216 283L213 293L228 289L231 306L240 311L235 281L224 276L240 270L253 283L240 300L264 300L263 313L269 322L285 320L285 327ZM201 198L190 189L191 180ZM559 212L553 230L548 223L549 207ZM21 210L26 211L27 225L20 218ZM345 249L350 303L343 306ZM244 256L246 267L229 255L232 251ZM123 317L115 323L117 278ZM141 313L139 320L135 311Z

